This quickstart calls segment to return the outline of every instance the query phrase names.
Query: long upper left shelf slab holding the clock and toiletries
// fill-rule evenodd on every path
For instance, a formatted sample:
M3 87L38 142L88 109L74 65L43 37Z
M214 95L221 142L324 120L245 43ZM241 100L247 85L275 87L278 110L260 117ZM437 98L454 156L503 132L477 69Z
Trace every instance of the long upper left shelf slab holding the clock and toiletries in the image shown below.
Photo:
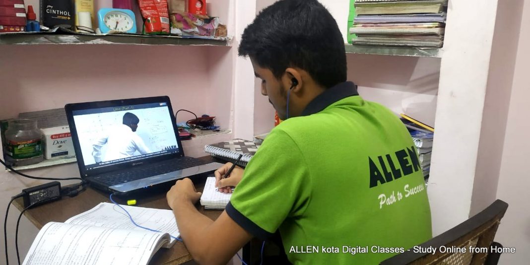
M96 34L50 34L12 33L0 34L0 45L39 44L128 44L128 45L207 45L231 46L230 40L182 38L176 36L140 35L96 35Z

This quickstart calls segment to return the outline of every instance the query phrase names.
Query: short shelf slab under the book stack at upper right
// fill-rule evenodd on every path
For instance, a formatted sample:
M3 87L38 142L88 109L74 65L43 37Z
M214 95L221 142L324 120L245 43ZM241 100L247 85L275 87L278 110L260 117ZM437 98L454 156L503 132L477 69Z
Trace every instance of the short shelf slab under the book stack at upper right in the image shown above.
M346 44L345 47L347 54L373 54L433 58L441 58L442 54L442 49L439 48L385 47L351 44Z

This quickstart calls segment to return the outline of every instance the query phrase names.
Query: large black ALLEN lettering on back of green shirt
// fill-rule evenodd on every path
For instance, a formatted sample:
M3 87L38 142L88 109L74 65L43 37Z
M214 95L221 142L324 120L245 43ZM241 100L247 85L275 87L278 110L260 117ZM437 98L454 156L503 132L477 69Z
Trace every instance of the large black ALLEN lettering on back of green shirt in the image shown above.
M397 161L398 163L394 163ZM370 169L370 188L378 183L385 184L421 170L418 154L414 146L398 152L380 155L375 159L368 157Z

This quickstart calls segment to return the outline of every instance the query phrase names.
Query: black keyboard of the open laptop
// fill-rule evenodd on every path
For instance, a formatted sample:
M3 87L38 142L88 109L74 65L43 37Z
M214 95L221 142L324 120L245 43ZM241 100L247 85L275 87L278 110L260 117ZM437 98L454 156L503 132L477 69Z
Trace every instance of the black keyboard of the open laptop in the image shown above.
M149 164L146 166L135 167L134 170L112 172L94 177L99 182L105 183L109 186L117 185L121 183L130 182L133 180L139 180L148 178L149 176L155 176L160 174L169 173L181 169L187 169L189 167L204 165L207 162L198 160L193 157L182 157L178 160L162 161L158 163Z

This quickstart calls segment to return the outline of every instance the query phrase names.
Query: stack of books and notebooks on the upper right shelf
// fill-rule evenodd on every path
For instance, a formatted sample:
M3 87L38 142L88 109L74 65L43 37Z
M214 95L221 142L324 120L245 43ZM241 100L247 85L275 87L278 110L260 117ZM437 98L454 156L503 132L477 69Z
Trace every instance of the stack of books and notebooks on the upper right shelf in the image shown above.
M447 0L351 0L354 45L440 48Z

